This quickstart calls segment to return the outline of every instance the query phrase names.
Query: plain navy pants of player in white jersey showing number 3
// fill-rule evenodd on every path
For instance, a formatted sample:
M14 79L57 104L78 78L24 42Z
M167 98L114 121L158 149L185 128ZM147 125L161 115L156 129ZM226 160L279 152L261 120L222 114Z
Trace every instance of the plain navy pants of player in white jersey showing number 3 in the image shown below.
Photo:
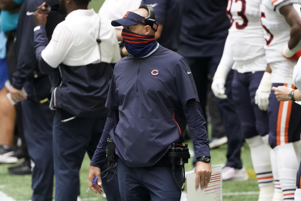
M264 71L238 73L235 71L232 82L232 97L241 121L241 133L245 138L269 133L267 111L255 104L255 94Z

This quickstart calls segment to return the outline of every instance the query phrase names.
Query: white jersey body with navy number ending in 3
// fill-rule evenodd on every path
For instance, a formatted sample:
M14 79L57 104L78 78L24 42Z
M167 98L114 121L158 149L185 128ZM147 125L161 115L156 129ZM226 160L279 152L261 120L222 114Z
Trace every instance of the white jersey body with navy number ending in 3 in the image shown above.
M260 4L261 0L228 0L227 14L231 26L227 40L235 61L232 68L239 73L267 68Z

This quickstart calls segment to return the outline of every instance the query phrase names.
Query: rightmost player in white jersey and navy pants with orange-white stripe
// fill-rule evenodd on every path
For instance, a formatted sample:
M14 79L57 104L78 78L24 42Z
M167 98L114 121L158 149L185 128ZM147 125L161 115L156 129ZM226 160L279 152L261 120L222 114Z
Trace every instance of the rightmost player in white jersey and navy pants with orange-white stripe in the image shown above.
M296 173L300 161L301 106L293 101L279 102L274 87L295 89L293 67L301 49L300 0L262 0L261 22L265 29L266 58L272 71L264 76L256 95L269 95L269 143L275 151L280 187L285 200L294 200ZM268 73L266 73L268 74ZM276 199L276 200L281 200Z

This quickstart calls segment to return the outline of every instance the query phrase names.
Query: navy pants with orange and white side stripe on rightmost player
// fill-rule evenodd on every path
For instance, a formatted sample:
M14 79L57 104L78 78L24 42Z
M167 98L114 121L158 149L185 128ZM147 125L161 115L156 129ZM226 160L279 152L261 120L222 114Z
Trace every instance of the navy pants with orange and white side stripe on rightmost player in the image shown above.
M274 87L287 84L273 83ZM294 86L287 86L294 88ZM273 108L273 109L271 109ZM269 97L269 143L272 148L300 140L301 106L293 101L278 101L274 91Z

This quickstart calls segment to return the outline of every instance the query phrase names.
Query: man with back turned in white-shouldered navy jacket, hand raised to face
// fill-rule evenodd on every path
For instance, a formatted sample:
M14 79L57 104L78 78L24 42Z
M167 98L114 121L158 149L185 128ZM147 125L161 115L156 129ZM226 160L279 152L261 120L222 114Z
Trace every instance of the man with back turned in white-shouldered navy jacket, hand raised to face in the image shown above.
M55 200L76 201L79 170L87 154L92 158L108 114L105 101L112 65L120 59L115 29L101 20L89 0L61 0L66 19L45 32L47 11L43 3L34 13L35 54L42 73L59 68L61 84L52 91ZM58 67L59 66L59 67ZM107 180L107 179L104 179ZM104 184L108 200L120 199L118 178Z

